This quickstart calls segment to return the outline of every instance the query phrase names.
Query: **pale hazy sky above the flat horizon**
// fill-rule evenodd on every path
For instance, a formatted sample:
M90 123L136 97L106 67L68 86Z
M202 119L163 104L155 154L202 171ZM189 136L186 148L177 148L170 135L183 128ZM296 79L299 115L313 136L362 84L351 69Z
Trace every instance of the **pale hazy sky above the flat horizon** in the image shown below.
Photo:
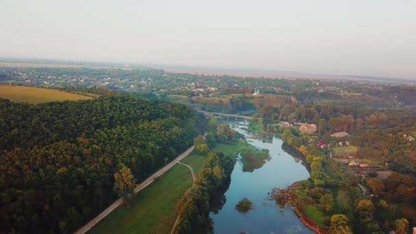
M0 57L416 79L415 12L415 0L0 0Z

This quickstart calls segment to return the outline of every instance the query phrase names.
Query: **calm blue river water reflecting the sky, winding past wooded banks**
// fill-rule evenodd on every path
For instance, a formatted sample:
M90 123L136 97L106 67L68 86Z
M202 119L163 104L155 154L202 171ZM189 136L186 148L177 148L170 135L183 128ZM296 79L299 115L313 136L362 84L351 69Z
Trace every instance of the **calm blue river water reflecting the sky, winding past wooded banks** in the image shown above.
M234 122L230 126L245 135L253 146L268 149L271 159L253 172L243 172L242 164L237 160L231 184L224 194L224 205L219 211L210 213L214 233L313 233L302 224L290 206L281 209L273 200L268 200L268 192L273 187L286 188L309 178L302 158L295 152L290 153L290 148L283 145L281 138L262 135L262 139L251 139L252 134L246 131L247 126L243 123ZM248 198L254 207L245 214L235 209L243 198Z

